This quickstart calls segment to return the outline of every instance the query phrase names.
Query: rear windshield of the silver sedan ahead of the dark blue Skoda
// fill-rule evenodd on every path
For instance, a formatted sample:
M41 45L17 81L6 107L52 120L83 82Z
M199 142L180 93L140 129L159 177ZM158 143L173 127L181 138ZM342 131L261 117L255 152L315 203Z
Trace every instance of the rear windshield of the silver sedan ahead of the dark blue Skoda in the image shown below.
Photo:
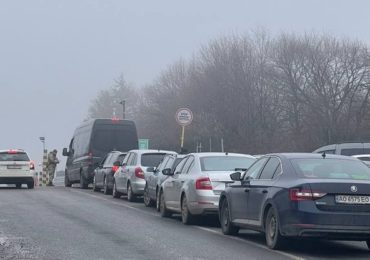
M256 159L238 156L208 156L200 158L202 171L235 171L247 169Z

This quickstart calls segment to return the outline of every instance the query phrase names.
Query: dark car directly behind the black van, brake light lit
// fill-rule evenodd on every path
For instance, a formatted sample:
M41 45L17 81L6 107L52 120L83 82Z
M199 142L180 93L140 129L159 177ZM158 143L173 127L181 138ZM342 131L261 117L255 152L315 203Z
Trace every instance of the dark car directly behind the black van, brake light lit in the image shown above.
M94 170L93 190L103 189L104 194L112 194L113 175L122 165L127 153L112 151L108 153Z

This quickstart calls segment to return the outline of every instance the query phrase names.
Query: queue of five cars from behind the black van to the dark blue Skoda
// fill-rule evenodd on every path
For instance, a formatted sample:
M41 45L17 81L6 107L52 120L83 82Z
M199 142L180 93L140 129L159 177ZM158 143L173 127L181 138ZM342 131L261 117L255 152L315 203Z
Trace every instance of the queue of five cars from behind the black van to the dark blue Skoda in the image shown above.
M349 156L115 151L95 170L93 186L114 198L143 197L162 217L180 214L184 224L218 215L224 234L261 231L272 249L293 237L370 247L370 169Z

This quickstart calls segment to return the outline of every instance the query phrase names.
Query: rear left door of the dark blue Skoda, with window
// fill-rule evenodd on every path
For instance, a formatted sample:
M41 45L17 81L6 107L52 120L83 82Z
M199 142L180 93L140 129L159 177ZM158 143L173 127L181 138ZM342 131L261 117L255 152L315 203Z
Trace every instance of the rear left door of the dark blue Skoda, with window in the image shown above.
M276 181L274 176L275 173L277 175L280 172L280 165L278 157L270 157L258 178L250 180L247 217L255 225L261 225L262 223L261 212L263 205L268 197L268 193L272 192L271 187Z

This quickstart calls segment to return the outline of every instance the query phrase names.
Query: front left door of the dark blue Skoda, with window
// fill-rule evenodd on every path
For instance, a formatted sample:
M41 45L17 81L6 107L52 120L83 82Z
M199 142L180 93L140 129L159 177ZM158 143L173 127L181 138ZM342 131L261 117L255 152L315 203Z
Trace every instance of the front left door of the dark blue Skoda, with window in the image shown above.
M247 210L248 210L248 197L249 197L249 183L251 179L255 179L259 176L261 170L266 164L268 158L262 157L256 161L244 174L244 178L240 182L236 182L230 185L230 209L231 218L234 222L240 224L248 224Z

